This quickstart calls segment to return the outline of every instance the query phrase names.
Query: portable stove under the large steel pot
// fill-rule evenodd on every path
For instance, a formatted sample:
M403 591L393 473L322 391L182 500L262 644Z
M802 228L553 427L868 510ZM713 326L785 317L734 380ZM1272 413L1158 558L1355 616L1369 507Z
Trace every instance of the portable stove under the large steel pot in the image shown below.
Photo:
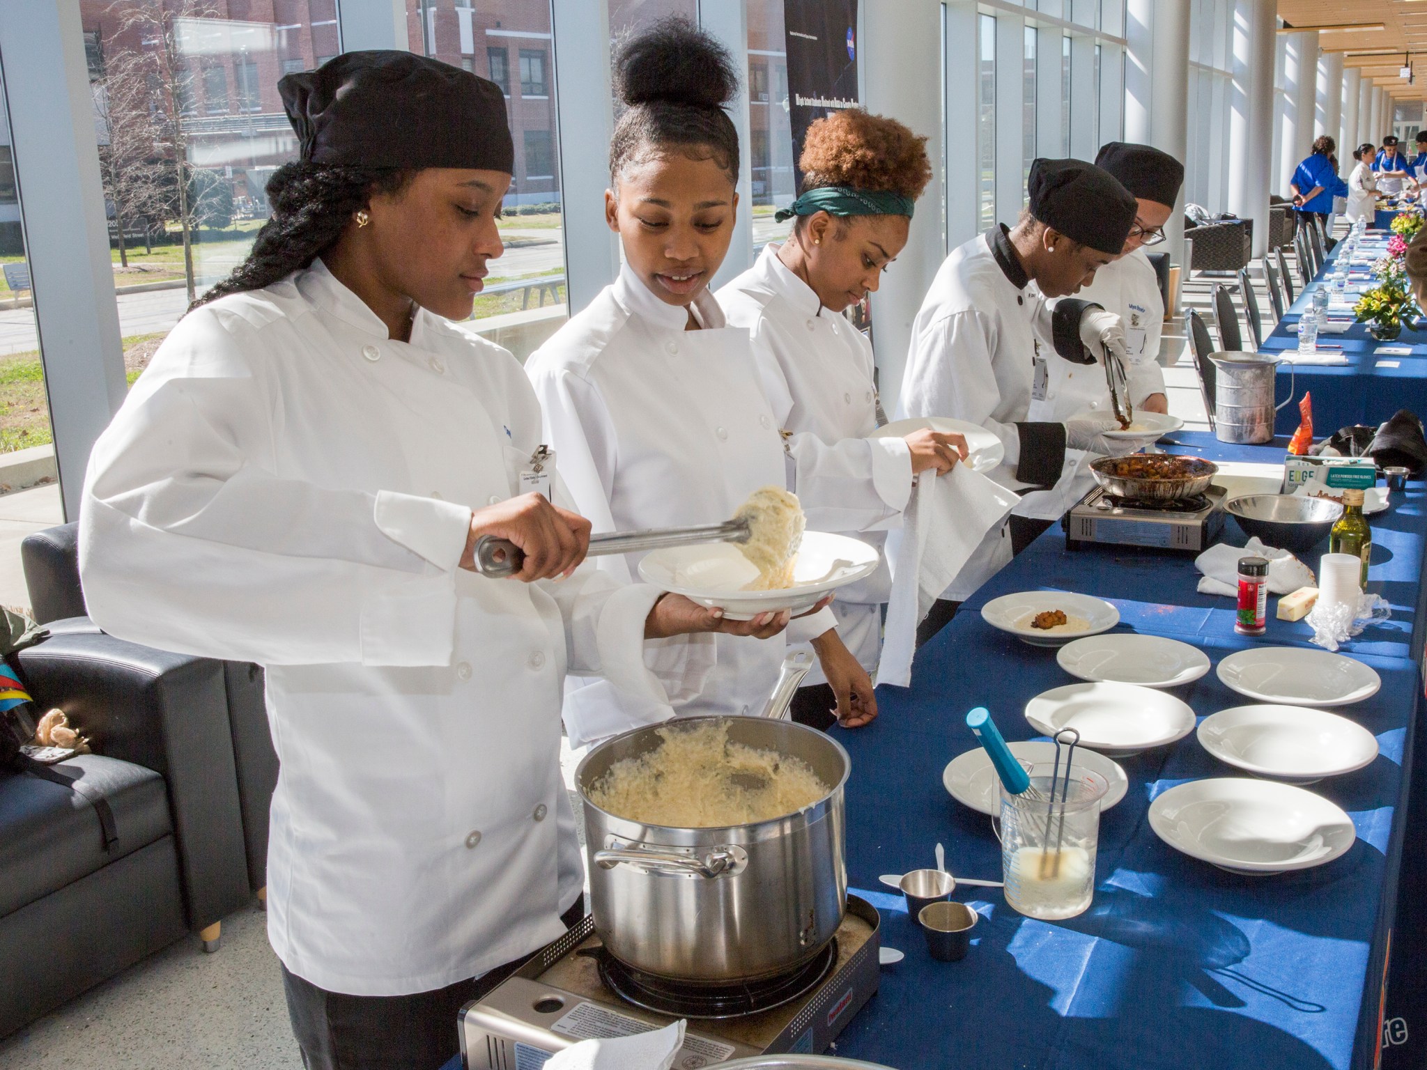
M848 896L838 934L811 964L756 984L685 986L605 953L586 916L485 999L461 1012L467 1070L537 1070L591 1037L688 1019L674 1070L765 1053L821 1053L878 990L880 920Z

